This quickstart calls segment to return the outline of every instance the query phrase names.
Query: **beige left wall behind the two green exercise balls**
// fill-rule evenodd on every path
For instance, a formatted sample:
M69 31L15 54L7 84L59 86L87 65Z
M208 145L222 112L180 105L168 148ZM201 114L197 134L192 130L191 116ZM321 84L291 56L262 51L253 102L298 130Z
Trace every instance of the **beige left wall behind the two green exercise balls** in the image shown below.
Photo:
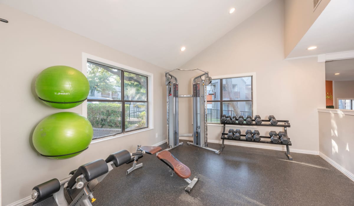
M69 171L89 161L104 159L121 149L135 151L138 144L153 145L166 139L164 69L8 6L0 5L0 13L1 18L9 21L0 25L1 185L2 196L6 197L2 199L2 205L29 196L35 185L51 178L64 178ZM53 113L73 111L81 114L82 106L59 110L44 105L35 94L36 76L53 65L81 70L82 52L153 73L155 128L92 144L71 159L42 157L32 145L35 126Z

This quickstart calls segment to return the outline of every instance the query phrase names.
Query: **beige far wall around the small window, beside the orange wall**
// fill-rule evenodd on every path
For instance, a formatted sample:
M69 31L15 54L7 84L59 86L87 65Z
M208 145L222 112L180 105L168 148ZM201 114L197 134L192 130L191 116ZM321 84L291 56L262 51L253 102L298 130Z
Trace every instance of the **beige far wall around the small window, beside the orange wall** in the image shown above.
M354 81L333 81L333 101L338 109L338 98L354 99Z

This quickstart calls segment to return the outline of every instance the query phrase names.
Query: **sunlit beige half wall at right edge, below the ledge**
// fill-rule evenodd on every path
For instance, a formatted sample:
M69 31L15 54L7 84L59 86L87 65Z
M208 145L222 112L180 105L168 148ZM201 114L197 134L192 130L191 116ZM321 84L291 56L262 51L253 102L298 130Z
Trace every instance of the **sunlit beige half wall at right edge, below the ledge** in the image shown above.
M318 119L320 155L354 181L354 111L319 110Z

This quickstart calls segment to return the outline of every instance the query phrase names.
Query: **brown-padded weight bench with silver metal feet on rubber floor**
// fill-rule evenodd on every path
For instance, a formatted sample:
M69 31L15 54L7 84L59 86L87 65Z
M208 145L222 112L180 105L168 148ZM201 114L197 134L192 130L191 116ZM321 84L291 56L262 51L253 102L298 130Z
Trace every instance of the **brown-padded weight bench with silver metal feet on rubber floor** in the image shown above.
M186 182L188 182L188 186L184 189L186 192L190 193L192 188L194 187L195 183L198 181L198 177L194 177L193 180L190 180L189 177L191 175L189 167L181 163L177 158L175 158L171 152L164 150L161 151L161 147L154 147L154 146L140 146L138 145L137 151L144 151L147 154L156 154L156 157L159 158L162 162L164 162L167 166L171 168L173 172L176 173L178 177L181 177ZM135 156L136 161L138 157ZM127 174L132 172L139 167L142 167L142 163L136 165L136 161L134 162L133 166L127 170Z

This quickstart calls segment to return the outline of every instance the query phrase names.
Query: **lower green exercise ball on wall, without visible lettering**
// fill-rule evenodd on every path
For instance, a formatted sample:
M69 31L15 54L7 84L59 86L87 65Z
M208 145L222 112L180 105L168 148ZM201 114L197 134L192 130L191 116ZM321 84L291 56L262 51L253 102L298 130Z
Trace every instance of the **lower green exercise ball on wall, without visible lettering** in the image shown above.
M90 121L74 112L59 112L44 118L34 129L36 150L51 159L67 159L90 145L93 129Z

